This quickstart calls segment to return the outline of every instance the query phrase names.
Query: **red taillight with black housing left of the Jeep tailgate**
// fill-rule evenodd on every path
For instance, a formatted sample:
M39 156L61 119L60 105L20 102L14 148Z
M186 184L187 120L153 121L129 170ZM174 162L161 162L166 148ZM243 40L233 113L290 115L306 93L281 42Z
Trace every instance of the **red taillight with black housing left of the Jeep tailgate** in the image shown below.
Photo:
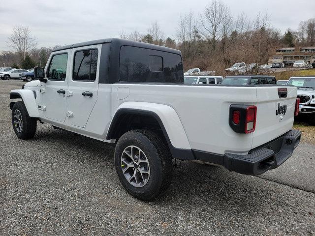
M257 107L252 105L231 105L229 125L237 133L248 134L255 131Z

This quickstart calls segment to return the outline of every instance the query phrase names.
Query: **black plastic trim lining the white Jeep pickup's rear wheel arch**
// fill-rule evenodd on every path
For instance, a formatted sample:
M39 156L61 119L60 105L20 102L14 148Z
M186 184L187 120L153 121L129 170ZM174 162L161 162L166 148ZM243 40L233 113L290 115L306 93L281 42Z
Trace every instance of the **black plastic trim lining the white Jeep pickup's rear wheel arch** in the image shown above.
M194 160L195 159L191 149L175 148L172 145L162 120L159 118L158 114L156 114L155 112L152 112L152 111L130 109L130 108L121 108L121 109L119 109L116 112L114 118L112 119L112 122L110 124L109 129L108 129L108 132L107 132L107 135L106 135L106 139L107 140L116 139L117 138L115 136L115 130L117 129L117 127L119 127L118 124L119 124L121 116L122 115L126 115L126 114L146 115L146 116L151 116L151 117L155 118L158 121L158 124L161 127L161 129L162 129L163 135L164 135L164 137L166 139L166 142L168 144L168 147L169 147L169 149L171 151L171 154L172 154L173 158L177 158L177 159L181 159L181 160Z

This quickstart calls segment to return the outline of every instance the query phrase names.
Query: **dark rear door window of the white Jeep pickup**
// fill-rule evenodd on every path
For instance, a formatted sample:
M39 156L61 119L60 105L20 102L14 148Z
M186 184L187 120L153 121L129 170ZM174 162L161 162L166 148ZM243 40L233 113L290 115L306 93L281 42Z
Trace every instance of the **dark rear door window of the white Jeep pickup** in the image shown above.
M75 52L72 75L73 81L95 81L97 56L97 49Z

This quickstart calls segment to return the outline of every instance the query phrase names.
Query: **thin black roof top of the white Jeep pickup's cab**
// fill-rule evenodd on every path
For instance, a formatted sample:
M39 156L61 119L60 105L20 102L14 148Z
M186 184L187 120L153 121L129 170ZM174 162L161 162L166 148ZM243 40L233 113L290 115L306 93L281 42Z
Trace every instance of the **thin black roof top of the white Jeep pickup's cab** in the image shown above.
M61 50L65 50L65 49L70 49L70 48L78 48L78 47L83 47L83 46L103 44L103 43L115 43L115 44L118 44L120 46L133 46L133 47L147 48L147 49L164 51L164 52L182 55L181 51L176 50L176 49L158 46L158 45L154 45L154 44L150 44L150 43L143 43L143 42L126 40L126 39L120 39L120 38L105 38L105 39L98 39L98 40L93 40L93 41L88 41L88 42L65 45L65 46L62 46L59 48L55 48L53 50L53 52L61 51Z

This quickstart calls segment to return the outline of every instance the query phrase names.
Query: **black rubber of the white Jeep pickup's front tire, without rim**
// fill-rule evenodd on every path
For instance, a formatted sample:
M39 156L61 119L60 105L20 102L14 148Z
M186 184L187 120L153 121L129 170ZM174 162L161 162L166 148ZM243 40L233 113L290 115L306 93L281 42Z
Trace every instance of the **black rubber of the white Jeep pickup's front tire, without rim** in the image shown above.
M17 126L14 122L15 111L18 111L22 117L22 128L20 131L17 130ZM17 113L18 113L17 112ZM16 102L12 108L12 126L13 130L20 139L32 139L36 133L37 120L29 116L28 111L23 102Z

